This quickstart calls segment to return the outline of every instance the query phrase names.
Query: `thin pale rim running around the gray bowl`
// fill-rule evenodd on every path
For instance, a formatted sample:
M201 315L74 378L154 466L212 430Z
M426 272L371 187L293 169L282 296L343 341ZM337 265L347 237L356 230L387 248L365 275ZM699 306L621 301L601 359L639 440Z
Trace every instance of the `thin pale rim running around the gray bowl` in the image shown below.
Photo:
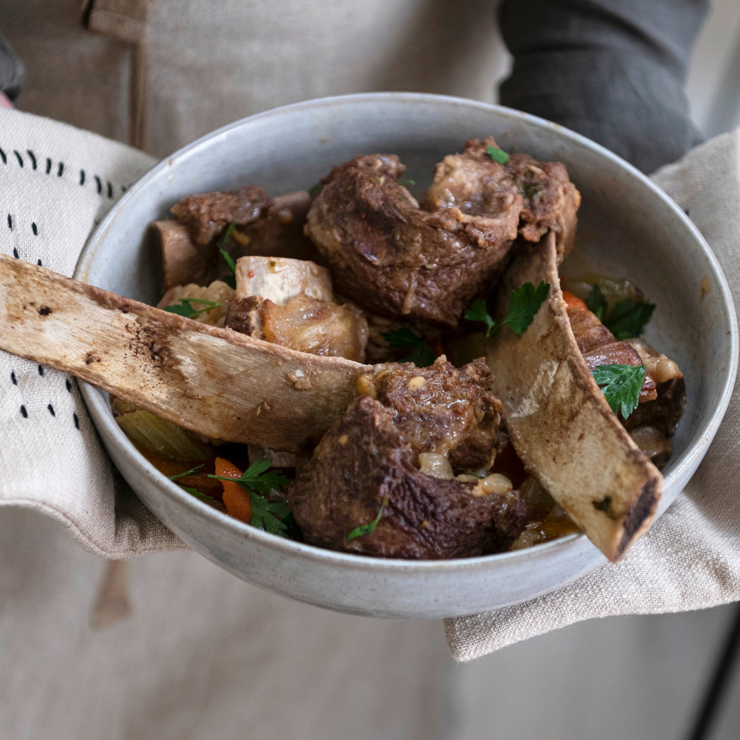
M134 184L129 186L124 195L122 195L121 198L113 204L111 209L107 212L104 218L101 219L98 226L96 226L91 233L87 243L81 251L80 257L78 258L73 277L87 282L86 278L90 265L92 265L92 262L94 261L95 249L97 248L98 243L104 241L106 232L112 221L117 218L118 213L121 212L121 210L127 207L128 201L135 198L135 195L138 192L146 189L151 181L156 181L162 172L166 172L175 158L187 158L189 155L192 155L200 149L207 141L221 137L235 129L239 129L245 124L251 124L253 121L258 121L261 118L270 118L273 115L288 111L300 112L300 110L309 110L317 107L326 108L336 104L372 104L377 101L398 101L401 104L437 104L452 107L477 108L486 112L495 112L503 118L508 117L519 121L526 121L529 124L534 124L535 127L554 129L557 135L562 136L565 139L570 139L573 143L580 144L582 147L591 149L592 152L610 160L612 164L625 170L628 175L639 181L642 186L647 187L647 189L649 189L656 198L667 205L673 212L673 215L675 215L682 223L684 228L688 229L690 234L693 236L694 242L702 250L704 257L707 258L710 269L713 271L712 277L716 281L716 285L718 287L721 303L724 311L729 317L730 363L725 372L724 386L721 390L719 403L713 410L710 419L704 423L702 427L696 429L692 435L693 442L687 446L679 457L679 460L676 460L675 464L671 467L670 471L665 476L665 483L668 484L671 480L680 477L685 468L693 463L693 460L695 460L697 455L702 454L703 457L703 452L705 452L706 448L710 445L722 419L724 418L724 414L727 411L727 406L730 403L730 397L735 385L735 378L738 369L738 321L727 278L724 276L724 272L722 272L721 266L719 265L719 261L714 255L714 252L702 236L702 233L696 228L693 221L691 221L678 204L673 201L673 198L670 198L670 196L650 180L647 175L640 172L639 169L619 157L619 155L616 155L605 147L602 147L601 144L596 144L595 141L591 141L591 139L571 131L571 129L567 129L552 121L547 121L545 118L539 118L539 116L532 115L531 113L515 110L499 104L484 103L482 101L460 98L453 95L435 95L423 92L362 92L353 93L351 95L332 95L324 98L312 98L311 100L283 105L255 113L254 115L246 116L245 118L240 118L238 121L233 121L231 124L226 124L212 132L206 133L205 135L195 139L195 141L177 149L171 155L166 156L157 164L153 165L144 173L144 175L141 175ZM78 383L81 389L81 394L84 397L88 410L90 411L92 421L95 424L95 427L101 431L101 436L107 437L112 443L118 444L119 450L122 454L126 455L129 462L131 462L136 468L139 468L139 470L147 476L149 481L152 482L152 484L162 493L166 494L170 499L175 500L178 505L184 505L188 508L189 515L198 515L201 519L209 520L209 522L212 522L217 526L230 529L232 534L238 534L242 536L243 539L252 539L255 544L260 545L260 547L270 548L286 556L297 555L305 559L314 560L314 562L324 562L342 568L352 568L354 570L371 570L376 572L390 571L397 573L408 569L413 571L435 572L441 569L443 571L454 572L460 570L482 570L492 565L497 565L498 563L511 561L512 559L516 562L539 559L541 556L545 556L545 554L554 550L584 544L590 545L585 534L577 532L548 542L539 543L530 548L505 551L491 555L457 559L407 560L400 558L377 558L360 554L343 553L275 536L274 534L269 534L266 531L252 527L244 522L240 522L238 519L229 517L227 514L223 514L223 512L212 508L212 506L209 506L206 502L203 502L200 499L187 494L186 491L183 491L180 486L178 486L174 481L169 480L164 473L158 471L152 463L139 453L129 438L123 431L121 431L121 428L117 423L115 423L115 419L107 400L104 399L103 391L81 380L78 380ZM659 513L656 514L656 519L654 521L656 521L661 514L662 511L659 511ZM585 540L585 543L583 540ZM591 545L591 547L593 547L593 545Z

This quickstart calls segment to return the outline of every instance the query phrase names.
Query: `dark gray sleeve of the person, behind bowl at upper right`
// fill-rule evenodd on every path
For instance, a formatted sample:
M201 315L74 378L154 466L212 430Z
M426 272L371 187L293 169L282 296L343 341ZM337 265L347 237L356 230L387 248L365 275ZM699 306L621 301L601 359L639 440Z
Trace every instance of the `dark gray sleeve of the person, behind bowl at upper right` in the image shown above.
M506 0L514 55L501 102L611 149L643 172L702 141L684 85L708 0Z

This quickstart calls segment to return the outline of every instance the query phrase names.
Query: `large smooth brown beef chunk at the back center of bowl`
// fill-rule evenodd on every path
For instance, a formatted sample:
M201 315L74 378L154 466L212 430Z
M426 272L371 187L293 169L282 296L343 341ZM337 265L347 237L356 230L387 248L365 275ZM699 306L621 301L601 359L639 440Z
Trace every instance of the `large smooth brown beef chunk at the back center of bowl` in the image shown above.
M522 197L503 193L494 215L429 213L397 183L405 169L380 154L334 167L306 234L332 266L337 291L363 309L457 326L462 309L505 267Z

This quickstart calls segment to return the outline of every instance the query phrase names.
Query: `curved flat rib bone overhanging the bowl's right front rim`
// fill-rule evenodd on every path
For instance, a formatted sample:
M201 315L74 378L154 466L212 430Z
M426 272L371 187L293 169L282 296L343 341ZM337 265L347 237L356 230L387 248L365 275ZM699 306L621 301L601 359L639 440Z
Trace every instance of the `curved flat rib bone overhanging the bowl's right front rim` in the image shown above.
M551 283L550 296L522 337L505 328L489 344L493 390L525 468L596 547L617 560L650 525L662 475L619 423L579 352L553 233L512 264L500 311L508 290L527 280Z

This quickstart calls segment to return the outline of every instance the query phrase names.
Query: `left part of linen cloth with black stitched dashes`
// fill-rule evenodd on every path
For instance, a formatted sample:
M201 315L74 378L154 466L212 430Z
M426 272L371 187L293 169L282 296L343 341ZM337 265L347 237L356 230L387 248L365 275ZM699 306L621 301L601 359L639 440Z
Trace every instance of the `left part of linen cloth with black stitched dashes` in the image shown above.
M0 110L0 250L72 275L90 231L153 164L66 124ZM113 558L184 545L114 475L73 378L0 353L0 505L61 521Z

